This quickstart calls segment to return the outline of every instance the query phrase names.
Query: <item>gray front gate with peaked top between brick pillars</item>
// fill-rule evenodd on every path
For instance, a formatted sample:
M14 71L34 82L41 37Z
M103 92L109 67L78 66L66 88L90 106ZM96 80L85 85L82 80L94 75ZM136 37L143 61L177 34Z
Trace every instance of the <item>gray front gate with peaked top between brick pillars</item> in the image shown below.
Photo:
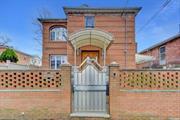
M73 112L106 113L107 69L87 64L73 74Z

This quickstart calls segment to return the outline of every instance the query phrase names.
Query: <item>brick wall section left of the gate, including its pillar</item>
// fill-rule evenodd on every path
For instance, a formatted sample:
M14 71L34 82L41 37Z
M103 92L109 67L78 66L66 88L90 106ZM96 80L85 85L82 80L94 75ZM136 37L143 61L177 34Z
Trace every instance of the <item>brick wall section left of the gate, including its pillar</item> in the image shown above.
M60 119L71 111L71 66L0 71L0 119Z

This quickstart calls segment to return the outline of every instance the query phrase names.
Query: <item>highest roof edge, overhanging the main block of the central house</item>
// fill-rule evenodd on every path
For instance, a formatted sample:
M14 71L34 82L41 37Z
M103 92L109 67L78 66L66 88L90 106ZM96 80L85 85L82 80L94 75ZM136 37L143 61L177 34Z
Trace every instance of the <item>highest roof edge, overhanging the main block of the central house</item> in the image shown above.
M120 7L120 8L110 8L110 7L63 7L65 14L68 13L137 13L141 10L141 7Z

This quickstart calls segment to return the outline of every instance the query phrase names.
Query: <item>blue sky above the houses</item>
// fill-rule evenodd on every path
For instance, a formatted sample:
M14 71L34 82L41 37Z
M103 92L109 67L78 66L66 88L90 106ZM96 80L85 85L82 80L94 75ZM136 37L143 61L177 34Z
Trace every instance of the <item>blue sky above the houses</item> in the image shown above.
M142 7L136 16L136 42L138 51L176 35L180 24L180 0L171 0L141 31L142 26L157 12L166 0L0 0L0 35L9 36L10 46L41 57L40 45L34 40L33 20L42 8L51 12L52 18L66 18L63 6L90 7ZM127 3L127 4L126 4Z

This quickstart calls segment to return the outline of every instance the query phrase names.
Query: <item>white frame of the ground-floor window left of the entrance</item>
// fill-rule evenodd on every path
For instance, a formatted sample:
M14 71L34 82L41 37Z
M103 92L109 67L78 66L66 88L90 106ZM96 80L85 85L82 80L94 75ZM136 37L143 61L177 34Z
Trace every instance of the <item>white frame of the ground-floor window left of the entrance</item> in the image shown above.
M55 57L55 63L54 63L54 65L55 65L55 67L54 68L52 68L52 57ZM66 64L67 63L67 55L50 55L49 56L49 62L50 62L50 68L51 69L59 69L58 68L58 64L57 64L57 60L58 60L58 57L60 58L60 65L61 64ZM64 62L63 62L64 61Z

